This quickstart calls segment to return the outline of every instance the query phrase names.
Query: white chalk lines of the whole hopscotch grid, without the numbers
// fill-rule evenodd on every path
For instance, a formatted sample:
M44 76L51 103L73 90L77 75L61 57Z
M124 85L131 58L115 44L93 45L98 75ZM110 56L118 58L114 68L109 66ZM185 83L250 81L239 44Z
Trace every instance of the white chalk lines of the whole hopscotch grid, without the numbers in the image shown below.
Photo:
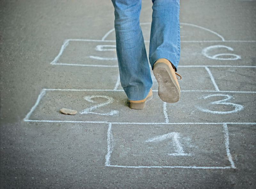
M141 23L141 25L146 25L146 24L151 24L151 23ZM201 28L203 30L209 31L217 36L220 37L221 40L212 40L212 41L181 41L183 43L219 43L219 42L234 42L234 43L255 43L256 41L242 41L242 40L229 40L226 41L221 35L217 34L216 32L213 32L212 30L209 30L207 28L203 28L197 25L193 25L193 24L187 24L187 23L180 23L181 25L188 25L188 26L193 26L196 28ZM55 59L51 62L52 65L67 65L67 66L91 66L91 67L118 67L118 65L114 65L114 66L108 66L108 65L84 65L84 64L66 64L66 63L57 63L58 60L60 59L60 56L62 55L63 51L65 50L65 48L68 46L70 41L84 41L84 42L116 42L114 40L105 40L106 37L113 32L115 29L111 29L110 31L108 31L101 40L89 40L89 39L67 39L64 41L63 45L61 46L60 52L58 54L57 57L55 57ZM149 41L145 41L145 42L149 42ZM206 69L206 71L208 72L212 83L215 87L215 91L197 91L197 90L187 90L187 91L182 91L182 92L229 92L229 93L256 93L255 91L220 91L215 80L214 77L211 74L211 71L209 69L209 67L256 67L256 66L221 66L221 65L212 65L212 66L200 66L200 65L189 65L189 66L179 66L179 67L204 67ZM41 91L41 93L39 94L35 105L31 108L31 110L28 112L28 114L26 115L26 117L23 119L25 122L72 122L72 123L108 123L109 127L108 127L108 153L106 155L106 166L109 167L123 167L123 168L188 168L188 169L230 169L230 168L236 168L235 164L232 160L232 156L230 154L229 151L229 139L228 139L228 124L247 124L247 125L255 125L256 123L251 123L251 122L227 122L227 123L169 123L169 119L168 119L168 115L167 115L167 109L166 109L166 102L163 103L163 110L164 110L164 117L165 117L165 122L164 123L130 123L130 122L93 122L93 121L53 121L53 120L29 120L30 115L32 114L32 112L36 109L37 105L39 104L40 100L43 98L43 96L45 95L45 91L123 91L123 90L117 90L118 86L120 84L120 76L118 76L115 88L113 90L76 90L76 89L43 89ZM156 91L156 90L153 90ZM228 159L231 163L231 166L228 167L195 167L195 166L119 166L119 165L110 165L110 157L111 157L111 153L113 151L113 136L111 133L111 126L112 124L222 124L223 125L223 129L224 129L224 134L225 134L225 145L226 145L226 152L227 152L227 156Z

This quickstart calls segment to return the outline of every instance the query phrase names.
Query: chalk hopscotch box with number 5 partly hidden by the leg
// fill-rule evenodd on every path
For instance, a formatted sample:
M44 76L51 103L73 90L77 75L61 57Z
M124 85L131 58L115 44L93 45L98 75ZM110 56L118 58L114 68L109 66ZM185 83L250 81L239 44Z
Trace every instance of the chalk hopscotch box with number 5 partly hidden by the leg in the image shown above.
M116 43L99 40L68 39L51 64L101 65L117 67Z

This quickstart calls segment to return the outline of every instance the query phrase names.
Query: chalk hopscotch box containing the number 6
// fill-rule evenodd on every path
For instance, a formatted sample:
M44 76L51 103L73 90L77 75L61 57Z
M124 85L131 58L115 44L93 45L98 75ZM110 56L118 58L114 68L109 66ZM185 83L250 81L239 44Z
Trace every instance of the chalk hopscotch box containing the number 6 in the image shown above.
M180 46L181 52L179 66L254 66L253 59L255 58L255 42L239 43L239 41L226 41L212 43L198 41L194 43L182 43L181 41ZM206 52L204 50L206 50ZM203 51L205 53L203 53ZM206 57L206 55L208 57ZM236 59L238 56L241 58ZM194 74L196 75L196 72Z

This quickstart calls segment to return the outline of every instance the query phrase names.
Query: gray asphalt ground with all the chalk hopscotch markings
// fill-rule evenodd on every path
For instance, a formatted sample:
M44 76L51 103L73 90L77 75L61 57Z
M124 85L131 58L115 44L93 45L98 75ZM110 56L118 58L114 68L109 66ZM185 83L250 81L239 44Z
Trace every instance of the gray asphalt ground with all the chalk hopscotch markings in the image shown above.
M180 101L152 75L143 110L118 81L110 0L0 3L1 189L256 187L256 1L182 0Z

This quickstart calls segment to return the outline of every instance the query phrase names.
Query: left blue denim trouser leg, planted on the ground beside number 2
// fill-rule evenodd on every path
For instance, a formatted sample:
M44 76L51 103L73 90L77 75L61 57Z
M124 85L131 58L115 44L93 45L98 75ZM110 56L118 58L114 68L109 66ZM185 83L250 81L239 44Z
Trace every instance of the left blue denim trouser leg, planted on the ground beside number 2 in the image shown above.
M152 79L140 28L141 0L112 0L112 3L120 81L129 100L142 100L148 95Z

